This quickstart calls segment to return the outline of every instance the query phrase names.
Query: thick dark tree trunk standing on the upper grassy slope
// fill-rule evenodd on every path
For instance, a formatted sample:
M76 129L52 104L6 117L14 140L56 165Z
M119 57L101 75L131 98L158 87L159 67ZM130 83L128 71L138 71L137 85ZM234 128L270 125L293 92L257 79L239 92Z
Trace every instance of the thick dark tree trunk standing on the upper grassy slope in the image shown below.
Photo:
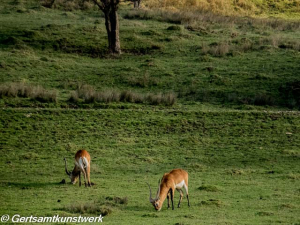
M120 35L119 35L119 18L117 10L112 7L105 12L105 27L108 38L108 49L112 54L121 54Z

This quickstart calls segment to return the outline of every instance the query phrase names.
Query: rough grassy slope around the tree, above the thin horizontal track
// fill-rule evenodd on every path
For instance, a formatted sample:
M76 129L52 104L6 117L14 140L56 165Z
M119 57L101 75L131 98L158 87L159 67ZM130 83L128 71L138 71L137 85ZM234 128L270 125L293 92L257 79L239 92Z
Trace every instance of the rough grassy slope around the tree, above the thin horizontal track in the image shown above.
M2 9L0 70L6 85L21 81L56 90L58 104L90 85L97 91L175 93L183 104L300 105L294 91L299 86L299 21L132 11L123 6L123 54L116 58L106 54L100 12L26 4L18 1ZM0 104L30 103L4 98Z

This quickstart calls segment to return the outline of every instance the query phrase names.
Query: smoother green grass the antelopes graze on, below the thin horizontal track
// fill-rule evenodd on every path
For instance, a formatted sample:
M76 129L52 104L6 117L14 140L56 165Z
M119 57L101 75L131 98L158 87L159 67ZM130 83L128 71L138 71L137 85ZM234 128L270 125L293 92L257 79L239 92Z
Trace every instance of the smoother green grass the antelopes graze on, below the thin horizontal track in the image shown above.
M108 224L299 223L299 118L263 112L2 110L1 214L72 215L70 205L102 202L112 211L104 218ZM80 148L92 156L96 185L60 185L67 179L63 158L71 162ZM184 199L181 209L167 210L165 203L155 212L145 182L156 188L164 172L178 167L189 172L191 208ZM103 203L106 197L128 197L128 204Z

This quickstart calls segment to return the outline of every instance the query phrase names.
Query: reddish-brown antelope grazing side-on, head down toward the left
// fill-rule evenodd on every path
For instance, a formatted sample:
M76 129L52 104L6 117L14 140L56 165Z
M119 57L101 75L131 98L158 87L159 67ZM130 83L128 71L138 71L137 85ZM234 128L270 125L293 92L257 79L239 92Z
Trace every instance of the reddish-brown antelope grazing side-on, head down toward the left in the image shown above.
M148 184L148 183L147 183ZM162 205L167 197L168 199L168 209L170 208L170 198L172 202L172 210L174 210L174 193L175 189L180 193L180 199L178 202L178 208L183 197L182 187L185 189L186 198L188 200L188 206L190 207L189 194L188 194L188 173L182 169L174 169L169 173L165 173L161 179L158 181L158 190L155 199L152 198L151 187L148 184L150 190L150 203L154 206L155 210L160 211Z

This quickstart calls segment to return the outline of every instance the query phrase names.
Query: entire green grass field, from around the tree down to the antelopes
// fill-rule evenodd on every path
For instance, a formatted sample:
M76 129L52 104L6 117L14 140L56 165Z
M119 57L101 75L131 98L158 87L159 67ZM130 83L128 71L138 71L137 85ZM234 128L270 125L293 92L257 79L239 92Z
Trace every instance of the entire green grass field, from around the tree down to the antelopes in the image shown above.
M112 56L98 11L0 4L0 216L300 224L299 19L130 7ZM64 171L79 149L91 188ZM156 212L174 168L191 207Z

